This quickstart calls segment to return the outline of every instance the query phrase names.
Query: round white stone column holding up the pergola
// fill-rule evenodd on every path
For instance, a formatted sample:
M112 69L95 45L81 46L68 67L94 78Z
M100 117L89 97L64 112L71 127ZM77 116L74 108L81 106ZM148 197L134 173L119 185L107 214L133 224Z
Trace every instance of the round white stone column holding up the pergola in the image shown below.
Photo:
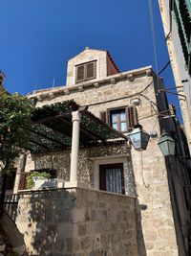
M79 152L79 127L81 120L81 113L79 111L72 112L73 115L73 139L71 151L71 175L70 182L77 182L77 165Z

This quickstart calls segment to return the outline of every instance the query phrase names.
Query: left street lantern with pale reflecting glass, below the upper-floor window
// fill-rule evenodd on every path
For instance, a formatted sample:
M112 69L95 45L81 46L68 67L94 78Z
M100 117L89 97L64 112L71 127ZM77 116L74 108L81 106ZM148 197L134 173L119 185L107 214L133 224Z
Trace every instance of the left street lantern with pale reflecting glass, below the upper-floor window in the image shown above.
M136 151L145 151L149 142L150 135L142 129L139 124L129 134L129 138Z

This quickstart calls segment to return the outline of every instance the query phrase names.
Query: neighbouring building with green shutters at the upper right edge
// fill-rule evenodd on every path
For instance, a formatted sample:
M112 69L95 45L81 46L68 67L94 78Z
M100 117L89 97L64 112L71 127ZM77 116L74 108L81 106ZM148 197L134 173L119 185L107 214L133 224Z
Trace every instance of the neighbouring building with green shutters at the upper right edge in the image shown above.
M191 3L159 0L159 10L191 152Z

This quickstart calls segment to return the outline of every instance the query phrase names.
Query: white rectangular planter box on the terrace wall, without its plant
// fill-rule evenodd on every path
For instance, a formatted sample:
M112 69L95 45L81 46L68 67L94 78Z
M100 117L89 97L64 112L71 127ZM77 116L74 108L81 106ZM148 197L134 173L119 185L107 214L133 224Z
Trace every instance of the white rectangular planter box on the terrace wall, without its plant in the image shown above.
M33 189L45 189L45 188L56 188L57 178L47 178L36 176L33 177L34 186Z

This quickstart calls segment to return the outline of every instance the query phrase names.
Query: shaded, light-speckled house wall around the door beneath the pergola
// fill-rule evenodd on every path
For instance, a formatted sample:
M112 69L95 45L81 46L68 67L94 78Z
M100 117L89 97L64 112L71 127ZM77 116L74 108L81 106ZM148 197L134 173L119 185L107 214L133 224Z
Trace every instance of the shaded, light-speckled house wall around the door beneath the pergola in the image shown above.
M110 164L112 159L115 163L118 157L120 157L123 162L126 195L135 196L135 182L131 164L130 147L126 142L80 149L78 157L78 181L85 182L91 185L91 187L99 189L95 174L95 159L105 159L105 163ZM33 155L35 170L56 170L57 177L66 181L70 180L70 159L70 151L56 151ZM29 165L27 165L26 168L26 171L30 171Z

